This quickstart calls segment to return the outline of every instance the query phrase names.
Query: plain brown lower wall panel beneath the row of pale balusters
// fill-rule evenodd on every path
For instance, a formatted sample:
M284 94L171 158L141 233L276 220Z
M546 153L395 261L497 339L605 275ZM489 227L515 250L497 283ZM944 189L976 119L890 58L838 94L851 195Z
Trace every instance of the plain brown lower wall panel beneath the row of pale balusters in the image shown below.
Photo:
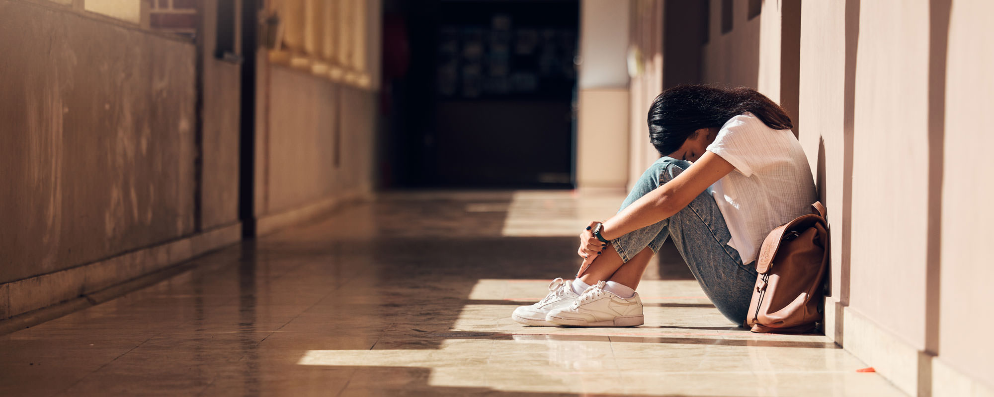
M373 190L374 91L268 66L256 136L257 233L368 199ZM264 129L262 129L264 128Z

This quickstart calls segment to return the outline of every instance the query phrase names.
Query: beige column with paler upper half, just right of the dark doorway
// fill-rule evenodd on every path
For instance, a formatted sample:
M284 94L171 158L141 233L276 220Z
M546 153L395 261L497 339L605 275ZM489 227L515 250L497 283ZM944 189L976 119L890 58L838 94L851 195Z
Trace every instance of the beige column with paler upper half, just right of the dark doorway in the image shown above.
M628 182L628 1L580 3L577 187L623 190Z

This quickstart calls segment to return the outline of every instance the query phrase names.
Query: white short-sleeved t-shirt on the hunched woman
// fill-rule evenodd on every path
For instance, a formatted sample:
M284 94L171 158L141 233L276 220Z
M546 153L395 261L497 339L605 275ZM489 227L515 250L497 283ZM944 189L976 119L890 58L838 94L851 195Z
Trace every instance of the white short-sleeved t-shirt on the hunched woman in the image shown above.
M769 128L749 112L725 123L708 151L736 168L711 188L732 233L729 246L748 264L771 230L810 213L817 200L811 168L790 130Z

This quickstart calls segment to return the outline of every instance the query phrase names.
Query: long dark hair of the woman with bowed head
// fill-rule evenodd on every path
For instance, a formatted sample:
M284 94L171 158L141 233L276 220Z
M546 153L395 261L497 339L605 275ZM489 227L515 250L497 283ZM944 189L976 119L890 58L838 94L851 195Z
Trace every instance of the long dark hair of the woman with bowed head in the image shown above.
M677 85L652 101L649 142L661 156L667 156L680 149L694 131L720 128L745 112L752 112L774 130L794 128L780 105L752 88Z

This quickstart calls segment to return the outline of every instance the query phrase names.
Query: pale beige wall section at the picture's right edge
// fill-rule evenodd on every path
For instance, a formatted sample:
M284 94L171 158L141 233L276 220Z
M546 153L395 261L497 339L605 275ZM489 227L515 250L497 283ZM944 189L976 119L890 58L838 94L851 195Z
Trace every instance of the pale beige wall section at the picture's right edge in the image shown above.
M940 181L939 355L932 364L931 384L936 391L932 395L991 396L994 339L987 330L994 328L994 320L978 313L976 303L991 302L990 280L994 278L986 249L990 233L985 231L994 224L994 212L987 209L994 195L990 177L994 135L978 127L977 121L994 108L994 76L990 72L994 69L994 37L989 33L994 3L955 1L951 5L948 15L936 15L943 10L934 7L931 15L932 29L941 29L942 19L948 18L947 55L939 60L947 60L944 76L938 76L938 84L930 84L935 89L944 85L945 92L941 109L944 165ZM934 38L936 32L932 35Z

